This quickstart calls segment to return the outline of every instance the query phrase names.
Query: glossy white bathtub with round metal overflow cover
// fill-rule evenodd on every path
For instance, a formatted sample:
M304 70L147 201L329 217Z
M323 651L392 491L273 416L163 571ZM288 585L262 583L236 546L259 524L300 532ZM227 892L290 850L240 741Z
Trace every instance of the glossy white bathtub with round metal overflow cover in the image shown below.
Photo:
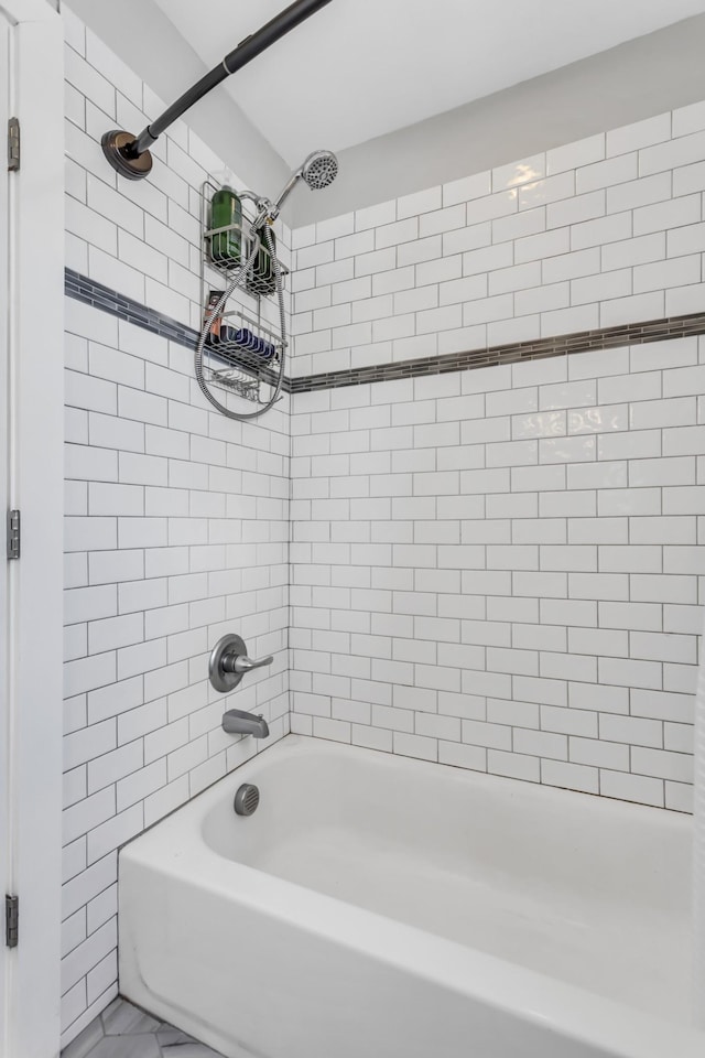
M673 813L290 736L122 850L120 991L229 1058L703 1058L690 844Z

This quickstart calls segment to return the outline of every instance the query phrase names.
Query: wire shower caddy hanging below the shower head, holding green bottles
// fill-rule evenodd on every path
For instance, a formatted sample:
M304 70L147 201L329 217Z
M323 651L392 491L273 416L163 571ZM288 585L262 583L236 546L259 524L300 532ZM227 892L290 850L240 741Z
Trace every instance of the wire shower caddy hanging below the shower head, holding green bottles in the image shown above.
M246 199L241 201L241 224L221 228L209 227L210 201L219 190L220 187L209 180L200 187L200 288L206 315L209 310L205 306L208 305L212 291L219 287L219 292L225 292L238 273L246 269L252 245L251 227L254 218ZM230 234L239 239L239 259L214 260L214 236L227 237ZM271 399L282 370L286 347L274 313L268 312L269 298L275 293L275 285L272 268L262 268L262 261L265 262L265 258L260 251L223 311L214 319L210 341L206 342L203 348L203 374L206 382L256 406L265 406ZM289 269L281 261L279 268L282 281L285 281ZM272 319L269 319L270 315ZM243 339L245 335L247 338ZM262 339L263 352L252 348L250 336Z

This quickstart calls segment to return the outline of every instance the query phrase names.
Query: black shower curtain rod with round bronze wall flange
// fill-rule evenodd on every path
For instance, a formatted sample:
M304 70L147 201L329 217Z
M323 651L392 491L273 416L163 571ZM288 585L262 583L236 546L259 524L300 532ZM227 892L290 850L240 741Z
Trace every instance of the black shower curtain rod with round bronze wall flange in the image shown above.
M203 99L212 88L241 69L271 44L285 36L301 22L311 18L321 8L325 8L330 0L294 0L294 3L280 11L270 22L256 33L246 36L238 46L225 56L221 63L215 66L192 88L180 96L161 117L142 129L139 136L124 132L121 129L111 129L101 140L102 152L112 168L128 180L142 180L151 172L152 155L149 148L182 114L185 114L195 102Z

